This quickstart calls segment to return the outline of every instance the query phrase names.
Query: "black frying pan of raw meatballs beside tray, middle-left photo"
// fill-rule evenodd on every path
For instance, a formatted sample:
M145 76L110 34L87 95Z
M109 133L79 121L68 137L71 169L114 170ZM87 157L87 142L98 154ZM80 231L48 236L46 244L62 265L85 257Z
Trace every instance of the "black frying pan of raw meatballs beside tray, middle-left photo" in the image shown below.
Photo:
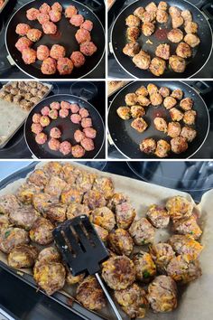
M82 108L87 108L90 117L92 118L93 127L97 130L97 137L94 139L95 149L93 151L87 151L83 156L84 159L95 158L101 150L104 139L105 139L105 127L104 122L98 113L97 109L94 108L88 101L81 99L77 96L68 94L58 94L55 96L48 97L39 102L34 108L32 108L28 118L26 119L24 126L24 136L26 144L31 150L32 154L40 159L52 159L52 158L63 158L70 159L72 155L62 155L59 151L52 151L48 146L48 141L44 145L38 145L35 142L35 135L31 131L32 116L34 113L40 113L44 106L49 106L53 101L68 101L69 103L77 103ZM70 111L69 111L70 116ZM52 127L59 127L62 132L60 141L68 140L72 146L77 145L74 140L74 132L79 128L79 125L73 124L69 117L57 118L51 120L51 124L48 127L44 127L43 132L50 136Z

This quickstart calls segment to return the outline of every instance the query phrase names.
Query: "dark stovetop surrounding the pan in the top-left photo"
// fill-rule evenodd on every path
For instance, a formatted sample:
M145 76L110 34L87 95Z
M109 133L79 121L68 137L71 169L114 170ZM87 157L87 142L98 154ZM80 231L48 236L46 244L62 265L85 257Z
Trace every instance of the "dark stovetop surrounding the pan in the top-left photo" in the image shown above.
M7 59L8 52L5 47L5 29L11 16L23 5L30 0L10 0L5 6L2 14L0 14L0 78L1 79L27 79L23 71L20 71L16 66L12 66ZM47 1L48 2L48 1ZM105 26L105 1L104 0L80 0L80 3L88 5L92 11L97 14L97 17ZM105 55L98 64L97 68L87 75L87 79L104 79L105 78Z

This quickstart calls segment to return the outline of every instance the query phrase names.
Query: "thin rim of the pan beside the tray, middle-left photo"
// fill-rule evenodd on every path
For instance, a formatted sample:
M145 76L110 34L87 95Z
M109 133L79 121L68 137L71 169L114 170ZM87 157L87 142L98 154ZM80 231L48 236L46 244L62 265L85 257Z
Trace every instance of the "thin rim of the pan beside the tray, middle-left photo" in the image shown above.
M53 95L53 96L49 96L49 97L47 97L47 98L45 98L45 99L42 99L42 101L45 101L46 99L50 99L50 98L54 98L54 97L59 97L59 96L68 96L68 97L74 97L74 98L83 100L84 102L87 102L91 108L93 108L93 109L95 109L95 110L97 111L98 117L101 119L101 124L102 124L102 127L103 127L103 139L102 139L102 143L101 143L100 148L97 150L96 155L94 155L94 157L92 158L92 159L95 159L95 158L97 157L97 155L99 155L99 153L100 153L100 151L101 151L101 149L103 148L104 143L105 143L106 129L105 129L105 124L104 124L103 118L101 117L101 115L100 115L99 111L97 110L97 108L95 108L90 102L88 102L88 100L82 99L82 98L80 98L80 97L78 97L78 96L75 96L75 95L66 94L66 93L65 93L65 94L59 93L59 94L55 94L55 95ZM40 101L38 104L40 104L42 101ZM32 110L33 110L35 107L37 107L38 104L36 104L36 105L32 108ZM31 147L29 146L29 144L28 144L28 142L27 142L27 137L26 137L26 123L27 123L27 120L28 120L28 118L30 117L30 115L31 115L31 113L32 113L32 110L30 111L28 117L26 118L26 120L25 120L25 122L24 122L23 133L24 133L25 143L26 143L28 149L30 150L30 152L32 153L32 156L35 156L36 159L50 160L50 158L42 158L42 157L40 158L40 157L37 157L37 155L35 155L35 154L32 152L32 149L31 149ZM54 158L51 158L51 159L54 159ZM61 161L62 161L62 160L78 160L78 158L74 158L74 157L71 157L71 158L63 158L63 157L58 158L58 157L56 157L55 159L61 159ZM90 158L84 158L84 157L82 157L82 158L80 158L79 160L90 160ZM98 160L99 160L99 159L98 159Z

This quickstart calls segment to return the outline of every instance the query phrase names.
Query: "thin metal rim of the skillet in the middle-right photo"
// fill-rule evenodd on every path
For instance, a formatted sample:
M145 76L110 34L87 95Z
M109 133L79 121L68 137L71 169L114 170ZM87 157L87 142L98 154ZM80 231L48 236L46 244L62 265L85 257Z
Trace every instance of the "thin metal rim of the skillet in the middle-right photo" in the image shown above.
M110 110L110 108L112 107L112 104L113 104L114 100L116 99L116 97L118 96L118 94L119 94L122 90L124 90L125 88L127 88L128 86L130 86L132 83L139 82L139 81L140 81L140 82L147 82L147 81L149 82L149 80L133 80L133 81L131 81L130 83L127 83L127 84L125 85L125 87L123 87L122 89L120 89L120 90L116 93L116 96L114 97L114 99L112 99L112 101L111 101L111 103L110 103L110 105L109 105L109 108L108 108L108 110L107 110L107 131L108 131L108 134L109 134L109 136L111 137L111 139L112 139L112 141L113 141L114 146L116 146L116 143L115 143L113 137L112 137L111 134L110 134L109 126L108 126L109 110ZM162 80L159 80L159 81L162 81ZM154 81L154 82L157 84L158 81ZM176 159L176 158L172 158L172 157L167 157L167 158L157 158L157 157L156 157L156 159L155 159L155 158L153 158L153 159L147 158L149 161L156 161L156 160L158 160L158 159L159 159L159 161L168 161L168 160L177 160L177 161L178 161L178 160L182 160L182 159L190 159L193 155L197 154L197 152L199 151L199 149L201 148L201 146L203 146L203 144L205 143L205 141L206 141L206 139L207 139L207 137L208 137L209 128L210 128L210 116L209 116L207 104L206 104L206 102L204 101L204 99L200 96L200 94L196 91L196 89L190 87L190 85L189 85L188 83L186 83L186 82L184 82L184 81L181 81L181 80L171 80L171 82L181 82L181 83L183 83L184 85L186 85L187 87L189 87L190 89L192 89L192 90L196 93L196 95L199 95L199 98L202 100L202 102L203 102L203 104L204 104L204 106L205 106L205 108L206 108L207 115L208 115L207 133L206 133L206 136L204 137L201 145L199 146L199 148L198 148L193 154L189 155L187 158L181 158L181 159L179 159L179 158ZM134 161L144 160L144 158L130 158L128 155L125 155L125 153L124 153L123 151L121 151L118 146L116 146L116 149L117 149L117 151L119 151L122 155L124 155L125 158L127 158L127 159L134 160ZM142 153L142 154L143 154L143 153Z

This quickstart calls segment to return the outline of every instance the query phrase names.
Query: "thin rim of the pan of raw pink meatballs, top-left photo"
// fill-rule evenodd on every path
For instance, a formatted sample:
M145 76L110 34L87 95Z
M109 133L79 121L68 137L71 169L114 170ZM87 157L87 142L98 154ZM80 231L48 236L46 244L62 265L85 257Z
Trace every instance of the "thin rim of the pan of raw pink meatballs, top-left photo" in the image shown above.
M75 3L77 3L77 4L79 4L79 5L83 5L83 4L81 4L79 1L76 1L76 0L72 0L72 1L75 2ZM7 41L6 41L7 30L8 30L9 24L11 23L12 19L14 18L14 15L17 14L21 9L23 9L23 7L24 7L25 5L29 5L29 4L31 4L32 2L35 2L35 0L31 0L31 1L29 1L27 4L22 5L17 11L14 12L14 14L11 16L10 20L9 20L8 23L6 24L6 29L5 29L5 47L6 47L6 51L8 52L10 58L11 58L13 61L14 61L14 59L13 59L13 57L11 56L11 53L10 53L10 51L9 51L9 49L8 49ZM88 8L87 5L83 5L83 6L84 6L88 11L90 11L92 14L94 14L94 12L93 12L90 8ZM106 8L106 5L105 5L105 8ZM97 21L98 21L99 24L101 25L102 31L103 31L103 33L104 33L104 41L105 41L105 43L106 43L106 32L105 32L105 28L104 28L103 24L101 23L100 19L97 17L97 14L94 14L94 15L96 16ZM42 81L44 81L44 80L50 80L50 81L51 81L51 80L75 80L75 79L86 78L92 71L95 71L95 70L97 69L98 65L100 64L100 62L103 60L103 57L104 57L104 55L105 55L105 52L106 52L106 45L105 45L105 48L104 48L104 50L103 50L103 53L102 53L99 61L97 61L96 66L95 66L91 71L89 71L88 73L82 75L82 76L79 77L79 78L50 78L50 79L49 79L49 78L37 78L37 77L34 77L34 76L32 76L31 74L29 74L27 71L23 71L23 69L22 69L21 67L19 67L18 64L17 64L15 61L14 61L14 63L15 63L15 66L16 66L19 70L23 71L23 73L25 73L27 76L29 76L29 77L32 78L32 79L42 80Z

